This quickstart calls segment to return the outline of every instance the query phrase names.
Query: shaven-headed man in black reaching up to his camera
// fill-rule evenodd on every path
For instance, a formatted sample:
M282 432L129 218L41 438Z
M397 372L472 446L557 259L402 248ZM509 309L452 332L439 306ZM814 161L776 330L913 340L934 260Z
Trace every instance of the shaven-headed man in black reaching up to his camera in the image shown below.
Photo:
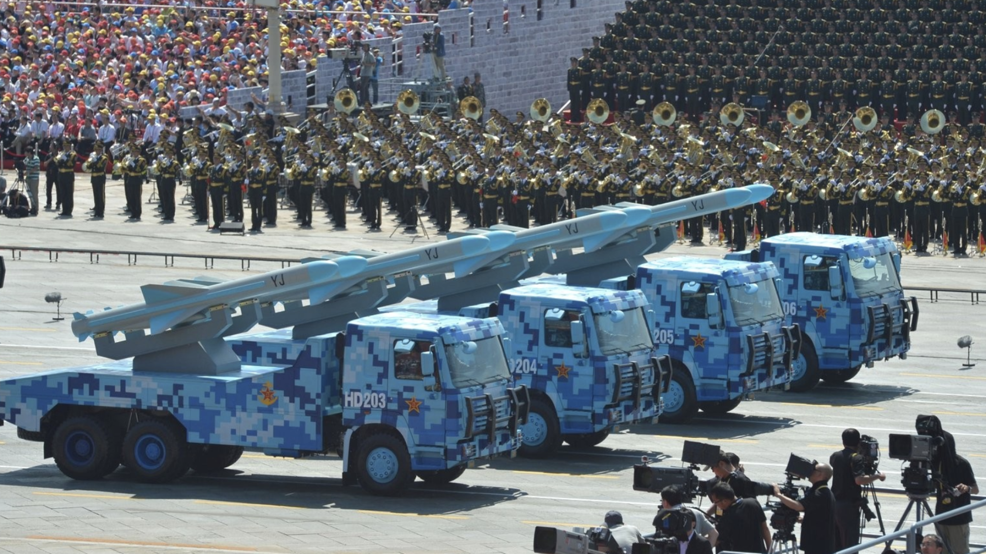
M804 512L802 519L801 549L806 554L832 554L835 548L835 496L828 488L832 477L832 467L827 463L817 463L808 476L810 489L805 498L794 500L781 494L781 488L774 484L774 496L784 506Z

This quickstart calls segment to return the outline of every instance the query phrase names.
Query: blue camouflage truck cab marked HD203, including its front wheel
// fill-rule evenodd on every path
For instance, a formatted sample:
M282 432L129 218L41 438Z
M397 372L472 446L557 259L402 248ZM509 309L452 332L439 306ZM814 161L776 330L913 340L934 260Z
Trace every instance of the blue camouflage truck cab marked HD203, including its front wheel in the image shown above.
M323 366L324 439L343 478L394 494L415 475L450 482L475 459L516 453L528 394L513 386L503 334L496 318L390 312L304 340L277 330L231 342L244 363Z

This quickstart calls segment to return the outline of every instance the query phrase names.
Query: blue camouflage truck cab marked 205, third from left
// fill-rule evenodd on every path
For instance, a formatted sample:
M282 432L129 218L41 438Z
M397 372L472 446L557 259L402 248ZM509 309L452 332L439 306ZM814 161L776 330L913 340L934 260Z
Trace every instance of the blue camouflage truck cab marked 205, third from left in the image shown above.
M652 336L671 365L662 422L701 408L726 413L758 390L785 388L797 330L784 325L770 264L669 257L603 286L639 288L654 312Z

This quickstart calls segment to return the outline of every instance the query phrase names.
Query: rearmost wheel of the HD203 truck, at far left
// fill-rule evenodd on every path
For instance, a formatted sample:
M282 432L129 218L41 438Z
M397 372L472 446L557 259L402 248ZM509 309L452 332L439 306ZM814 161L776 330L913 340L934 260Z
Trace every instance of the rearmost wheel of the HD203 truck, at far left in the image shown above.
M99 479L112 473L120 462L119 438L97 417L65 420L51 439L55 464L73 479Z

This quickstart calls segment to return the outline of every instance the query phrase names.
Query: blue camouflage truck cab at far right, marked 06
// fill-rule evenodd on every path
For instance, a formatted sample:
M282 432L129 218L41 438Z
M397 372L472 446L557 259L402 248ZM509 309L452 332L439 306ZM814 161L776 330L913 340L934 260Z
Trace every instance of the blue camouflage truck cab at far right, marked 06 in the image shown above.
M893 241L790 233L727 257L773 263L780 272L785 317L802 333L792 390L849 381L877 360L907 357L918 305L901 289Z

